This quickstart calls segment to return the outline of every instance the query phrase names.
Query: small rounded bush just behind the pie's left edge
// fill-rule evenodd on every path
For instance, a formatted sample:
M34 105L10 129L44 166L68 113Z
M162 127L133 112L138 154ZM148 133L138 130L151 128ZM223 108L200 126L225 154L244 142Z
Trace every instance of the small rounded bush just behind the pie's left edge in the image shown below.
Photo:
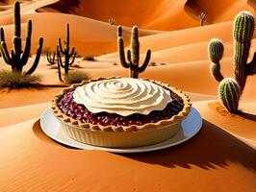
M89 80L90 76L84 71L70 71L67 75L64 75L65 84L79 84L84 80Z

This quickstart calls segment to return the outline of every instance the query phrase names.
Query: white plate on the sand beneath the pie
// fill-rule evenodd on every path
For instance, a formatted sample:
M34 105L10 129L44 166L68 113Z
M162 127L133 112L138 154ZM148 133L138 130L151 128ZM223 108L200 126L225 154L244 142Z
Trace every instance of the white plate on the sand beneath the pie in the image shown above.
M52 139L66 145L69 147L74 147L83 150L103 150L112 153L141 153L141 152L150 152L156 150L166 149L168 147L172 147L183 143L193 135L195 135L202 127L202 118L200 113L195 109L192 108L190 114L186 119L182 121L182 129L177 132L174 136L163 141L161 143L155 145L148 145L143 147L136 147L136 148L104 148L104 147L97 147L92 145L87 145L85 143L80 143L78 141L73 140L60 129L60 122L54 116L53 111L51 108L47 108L41 115L40 118L40 127L43 132L45 132L49 137Z

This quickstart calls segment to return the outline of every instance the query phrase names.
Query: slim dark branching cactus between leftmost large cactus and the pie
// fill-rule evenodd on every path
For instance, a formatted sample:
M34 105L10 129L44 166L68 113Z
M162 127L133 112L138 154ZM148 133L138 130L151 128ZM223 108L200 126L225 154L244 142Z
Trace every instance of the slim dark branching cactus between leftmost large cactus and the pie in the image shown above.
M76 58L76 51L75 47L70 49L70 42L69 42L69 24L66 25L66 39L64 41L65 48L62 45L62 39L59 38L59 54L57 55L57 60L60 62L60 65L64 68L64 74L67 75L69 71L69 66L71 66ZM64 55L64 63L61 57L61 53ZM72 58L72 59L71 59ZM71 59L71 60L70 60Z

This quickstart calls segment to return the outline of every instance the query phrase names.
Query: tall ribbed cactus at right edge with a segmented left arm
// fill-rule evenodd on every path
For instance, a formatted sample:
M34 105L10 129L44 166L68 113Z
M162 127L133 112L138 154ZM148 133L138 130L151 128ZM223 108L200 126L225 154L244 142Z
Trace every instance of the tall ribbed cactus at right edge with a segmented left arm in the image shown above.
M254 17L250 12L240 12L235 18L233 36L235 43L235 56L234 56L234 73L235 80L239 84L239 93L243 93L243 88L246 83L247 76L256 74L256 52L250 62L247 62L250 50L251 39L254 32ZM212 76L218 81L223 81L223 75L220 72L220 63L223 56L224 46L221 40L214 38L210 41L208 46L208 54L211 60L211 73ZM229 81L230 82L230 81ZM220 86L219 86L220 88ZM223 89L227 91L227 89ZM220 92L220 91L219 91ZM226 93L226 96L231 97L231 94ZM238 99L240 98L237 97ZM229 98L229 101L233 99ZM234 104L235 105L235 104ZM226 107L226 105L224 104ZM226 107L227 108L227 107ZM237 113L238 109L227 108L232 113Z

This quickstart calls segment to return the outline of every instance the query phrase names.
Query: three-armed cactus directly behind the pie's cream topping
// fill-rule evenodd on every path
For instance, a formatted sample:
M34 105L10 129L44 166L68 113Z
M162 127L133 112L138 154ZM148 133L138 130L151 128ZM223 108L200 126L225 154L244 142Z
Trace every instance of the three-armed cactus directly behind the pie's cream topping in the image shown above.
M123 67L130 68L132 78L139 78L139 73L142 73L150 60L151 50L147 50L144 62L139 66L140 62L140 42L139 42L139 30L138 27L134 26L131 35L130 50L127 51L127 60L125 60L124 45L122 38L122 28L117 27L117 41L118 41L118 52L119 59Z

